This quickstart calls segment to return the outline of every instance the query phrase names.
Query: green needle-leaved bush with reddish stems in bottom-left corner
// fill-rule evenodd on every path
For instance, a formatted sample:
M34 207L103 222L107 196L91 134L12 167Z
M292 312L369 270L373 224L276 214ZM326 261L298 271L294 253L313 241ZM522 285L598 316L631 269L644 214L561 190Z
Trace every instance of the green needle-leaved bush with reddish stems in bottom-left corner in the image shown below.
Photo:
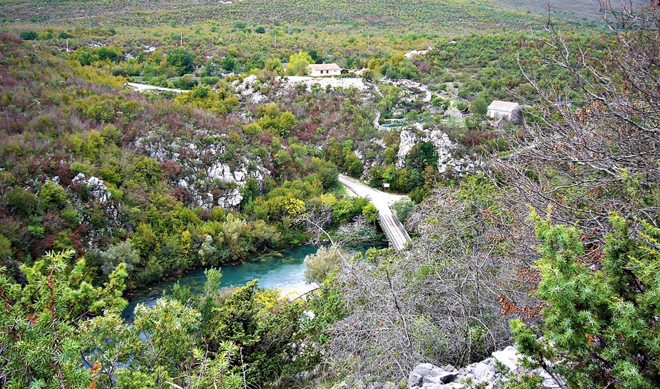
M85 320L124 308L126 269L118 265L104 287L93 287L85 260L68 269L73 254L51 252L33 266L23 265L25 285L13 283L0 268L3 388L89 388L96 381L98 369L83 366L80 356L104 340L83 335Z

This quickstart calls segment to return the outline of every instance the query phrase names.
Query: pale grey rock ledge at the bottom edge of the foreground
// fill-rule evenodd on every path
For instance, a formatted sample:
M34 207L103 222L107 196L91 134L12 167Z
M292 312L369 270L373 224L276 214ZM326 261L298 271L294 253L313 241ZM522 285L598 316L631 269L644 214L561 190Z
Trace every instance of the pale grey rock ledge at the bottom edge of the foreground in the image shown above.
M492 353L492 357L456 369L454 366L419 364L408 375L408 389L467 389L502 388L509 380L509 374L531 373L544 379L545 388L560 386L542 369L527 370L521 366L522 355L515 347L509 346Z

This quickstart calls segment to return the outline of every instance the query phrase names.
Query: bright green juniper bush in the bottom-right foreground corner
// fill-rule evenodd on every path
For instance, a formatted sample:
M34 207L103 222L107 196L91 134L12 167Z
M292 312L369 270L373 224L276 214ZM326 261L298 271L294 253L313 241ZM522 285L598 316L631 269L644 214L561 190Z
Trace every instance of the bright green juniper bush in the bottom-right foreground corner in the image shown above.
M511 323L519 350L571 388L660 387L660 229L611 216L602 261L590 266L577 228L533 219L544 322Z

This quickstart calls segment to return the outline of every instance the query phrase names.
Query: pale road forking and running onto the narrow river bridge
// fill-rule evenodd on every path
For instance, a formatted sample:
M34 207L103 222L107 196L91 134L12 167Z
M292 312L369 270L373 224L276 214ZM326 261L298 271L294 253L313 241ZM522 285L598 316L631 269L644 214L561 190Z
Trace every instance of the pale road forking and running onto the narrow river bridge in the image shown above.
M349 192L355 194L355 196L366 197L371 200L371 203L375 205L378 210L378 221L380 222L380 226L383 228L383 231L387 235L387 240L395 251L399 251L406 247L406 243L410 241L410 236L404 229L404 226L401 225L394 214L392 214L392 210L390 209L390 205L401 199L403 196L381 192L380 190L370 188L369 186L361 184L345 175L339 175L339 182L346 187Z

